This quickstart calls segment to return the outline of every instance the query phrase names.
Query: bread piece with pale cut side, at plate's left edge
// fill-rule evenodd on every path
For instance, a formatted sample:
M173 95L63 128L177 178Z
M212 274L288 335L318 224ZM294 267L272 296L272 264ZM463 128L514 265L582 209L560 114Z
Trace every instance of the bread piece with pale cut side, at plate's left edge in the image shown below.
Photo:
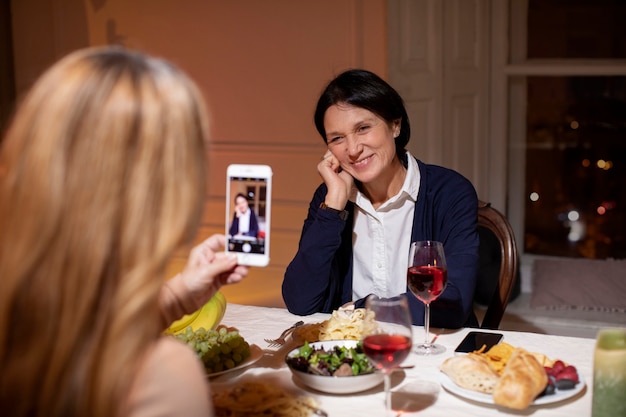
M472 353L448 358L440 369L458 386L486 394L493 392L500 379L485 358Z

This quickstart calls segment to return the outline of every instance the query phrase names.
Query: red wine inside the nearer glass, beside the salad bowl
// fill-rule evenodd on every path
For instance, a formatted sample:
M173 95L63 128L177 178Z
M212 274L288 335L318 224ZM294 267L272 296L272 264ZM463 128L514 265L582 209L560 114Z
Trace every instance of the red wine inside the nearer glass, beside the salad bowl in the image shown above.
M377 369L399 366L411 352L413 341L399 334L372 334L363 339L363 352Z

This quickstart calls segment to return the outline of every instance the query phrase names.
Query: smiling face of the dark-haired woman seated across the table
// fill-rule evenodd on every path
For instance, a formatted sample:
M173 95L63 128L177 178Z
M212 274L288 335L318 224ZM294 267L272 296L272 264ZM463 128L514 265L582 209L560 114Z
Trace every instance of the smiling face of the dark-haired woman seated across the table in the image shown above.
M328 149L364 187L390 183L399 163L394 138L400 123L387 122L361 107L345 103L326 110L324 128Z

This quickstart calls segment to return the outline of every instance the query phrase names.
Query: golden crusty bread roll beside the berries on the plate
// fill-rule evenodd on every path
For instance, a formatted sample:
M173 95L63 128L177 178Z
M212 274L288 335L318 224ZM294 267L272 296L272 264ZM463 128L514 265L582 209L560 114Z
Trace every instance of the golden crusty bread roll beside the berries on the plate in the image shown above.
M493 401L508 408L527 408L548 383L543 365L524 349L517 348L493 390Z

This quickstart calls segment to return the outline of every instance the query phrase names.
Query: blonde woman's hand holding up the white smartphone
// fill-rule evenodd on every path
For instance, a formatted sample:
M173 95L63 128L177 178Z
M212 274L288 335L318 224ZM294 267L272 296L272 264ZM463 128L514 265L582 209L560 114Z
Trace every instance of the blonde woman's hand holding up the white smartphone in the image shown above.
M226 237L215 234L191 250L181 278L198 306L204 305L223 286L240 282L248 267L237 264L237 255L221 252Z

